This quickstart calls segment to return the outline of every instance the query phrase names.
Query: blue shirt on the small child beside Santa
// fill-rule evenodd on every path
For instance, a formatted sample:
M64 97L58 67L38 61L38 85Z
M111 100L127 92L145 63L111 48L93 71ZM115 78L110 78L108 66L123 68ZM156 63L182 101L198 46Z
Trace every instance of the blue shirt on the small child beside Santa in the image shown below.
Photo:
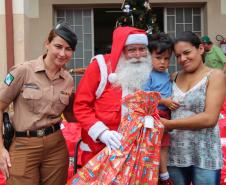
M148 82L143 86L144 91L160 92L161 98L168 98L172 94L172 82L168 72L152 71ZM167 110L168 108L162 104L158 105L159 110Z

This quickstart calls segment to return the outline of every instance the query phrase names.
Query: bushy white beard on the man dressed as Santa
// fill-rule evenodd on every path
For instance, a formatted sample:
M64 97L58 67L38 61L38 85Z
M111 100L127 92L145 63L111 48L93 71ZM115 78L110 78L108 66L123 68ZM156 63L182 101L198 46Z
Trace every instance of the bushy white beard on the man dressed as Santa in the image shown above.
M123 91L132 93L141 89L142 85L148 80L152 70L151 56L141 57L139 59L126 59L122 54L116 68L117 82L116 86L121 86Z

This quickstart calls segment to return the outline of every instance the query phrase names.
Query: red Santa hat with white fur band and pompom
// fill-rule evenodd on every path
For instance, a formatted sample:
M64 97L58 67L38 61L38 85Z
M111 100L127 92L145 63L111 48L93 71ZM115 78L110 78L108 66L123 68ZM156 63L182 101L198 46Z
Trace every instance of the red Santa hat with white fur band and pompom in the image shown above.
M115 72L119 57L123 48L129 44L144 44L148 45L148 38L144 30L134 27L118 27L113 32L113 42L110 54L111 73ZM114 83L114 74L109 75L109 81Z

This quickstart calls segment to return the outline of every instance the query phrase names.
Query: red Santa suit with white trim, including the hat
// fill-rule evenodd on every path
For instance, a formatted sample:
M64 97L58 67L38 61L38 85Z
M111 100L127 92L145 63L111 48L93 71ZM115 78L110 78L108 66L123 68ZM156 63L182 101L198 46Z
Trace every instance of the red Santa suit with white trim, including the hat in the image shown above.
M84 151L83 165L105 147L98 140L100 134L107 129L118 129L122 90L108 79L115 72L125 44L133 43L147 45L146 33L133 27L115 29L111 54L104 55L105 65L98 63L96 58L93 59L76 90L73 111L82 127L80 148Z

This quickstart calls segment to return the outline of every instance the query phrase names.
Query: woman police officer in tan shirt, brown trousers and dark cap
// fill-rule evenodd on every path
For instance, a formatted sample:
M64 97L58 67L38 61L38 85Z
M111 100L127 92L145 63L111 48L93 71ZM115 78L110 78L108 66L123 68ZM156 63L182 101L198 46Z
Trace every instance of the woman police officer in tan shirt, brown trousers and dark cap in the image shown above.
M13 102L15 137L9 152L3 146L0 121L0 169L7 185L63 185L68 151L60 130L73 78L63 68L77 44L72 29L61 23L50 31L47 53L14 66L0 87L0 120Z

